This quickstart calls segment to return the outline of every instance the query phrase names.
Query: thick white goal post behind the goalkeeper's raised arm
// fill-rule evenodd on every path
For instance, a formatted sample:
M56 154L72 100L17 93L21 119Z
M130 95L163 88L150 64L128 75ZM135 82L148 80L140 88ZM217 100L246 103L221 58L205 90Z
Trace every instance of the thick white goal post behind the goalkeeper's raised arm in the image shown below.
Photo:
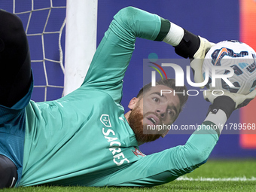
M84 81L96 51L97 0L67 0L64 96Z

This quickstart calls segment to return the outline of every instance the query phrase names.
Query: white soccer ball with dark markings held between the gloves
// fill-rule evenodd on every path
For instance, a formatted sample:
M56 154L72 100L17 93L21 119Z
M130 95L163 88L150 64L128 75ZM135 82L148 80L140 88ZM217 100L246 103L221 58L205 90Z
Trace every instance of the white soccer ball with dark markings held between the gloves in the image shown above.
M214 66L222 66L225 69L214 69ZM213 87L212 70L215 70L215 75L228 75L230 70L227 70L227 67L234 71L233 76L227 78L233 87L227 84L224 78L215 78ZM248 94L256 87L255 69L256 53L251 47L239 41L221 41L206 54L202 71L203 77L207 78L206 70L209 70L209 81L206 84L209 90Z

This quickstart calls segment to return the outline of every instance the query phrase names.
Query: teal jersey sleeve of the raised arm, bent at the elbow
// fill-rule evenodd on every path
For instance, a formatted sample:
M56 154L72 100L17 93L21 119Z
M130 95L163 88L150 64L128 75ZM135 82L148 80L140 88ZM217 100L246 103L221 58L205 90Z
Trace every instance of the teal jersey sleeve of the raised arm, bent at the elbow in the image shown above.
M163 27L162 27L163 28ZM123 77L135 48L136 38L161 41L161 18L138 8L120 10L96 50L82 87L99 89L120 103ZM163 30L162 30L163 31Z

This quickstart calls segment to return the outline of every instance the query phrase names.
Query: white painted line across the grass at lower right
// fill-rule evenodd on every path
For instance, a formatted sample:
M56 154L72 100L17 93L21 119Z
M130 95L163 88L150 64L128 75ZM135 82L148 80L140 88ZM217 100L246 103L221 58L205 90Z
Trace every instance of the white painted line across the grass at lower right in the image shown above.
M176 179L177 181L256 181L256 178L246 178L246 177L235 177L235 178L188 178L186 176L181 176Z

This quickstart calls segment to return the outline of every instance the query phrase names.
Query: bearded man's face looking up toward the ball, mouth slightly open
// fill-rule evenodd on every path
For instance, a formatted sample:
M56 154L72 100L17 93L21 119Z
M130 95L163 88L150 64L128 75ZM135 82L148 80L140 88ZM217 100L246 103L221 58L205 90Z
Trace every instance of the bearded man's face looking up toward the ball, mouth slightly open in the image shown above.
M129 123L139 142L151 142L160 136L165 136L168 130L149 130L149 126L168 126L178 117L180 111L178 96L174 96L173 93L161 94L161 90L170 90L170 88L164 85L151 87L143 98L137 99L131 111Z

